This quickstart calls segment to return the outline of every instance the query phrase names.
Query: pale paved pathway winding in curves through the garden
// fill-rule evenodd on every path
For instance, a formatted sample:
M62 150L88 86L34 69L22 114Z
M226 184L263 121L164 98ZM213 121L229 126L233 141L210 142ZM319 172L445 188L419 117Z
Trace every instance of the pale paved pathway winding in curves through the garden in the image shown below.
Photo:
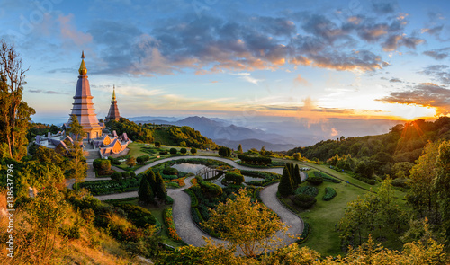
M199 158L205 158L205 159L215 159L222 161L224 163L228 163L229 165L236 167L238 169L243 170L253 170L253 171L266 171L266 172L276 172L276 173L282 173L283 168L272 168L272 169L261 169L261 168L251 168L246 167L243 165L240 165L238 163L235 163L234 161L231 161L229 159L221 158L221 157L215 157L215 156L198 156ZM135 172L138 174L140 172L144 172L148 170L148 168L155 166L159 163L165 163L167 161L182 159L182 158L193 158L193 156L172 156L165 159L158 160L153 163L149 163ZM302 180L306 177L303 172L301 172ZM212 243L227 243L226 241L212 238L210 234L205 234L195 223L193 222L192 216L191 216L191 198L187 193L185 193L183 190L191 187L191 179L186 178L184 179L185 186L183 188L179 189L167 189L167 194L174 199L174 205L173 208L173 216L174 216L174 222L175 222L175 228L178 235L183 239L185 243L191 244L193 246L203 246L206 244L204 237L211 238ZM290 210L287 208L284 208L284 206L280 203L280 201L276 198L276 192L278 190L278 184L275 183L270 186L267 186L265 189L261 190L260 197L262 199L262 202L270 209L272 209L278 216L280 216L281 221L284 223L284 225L288 226L287 234L284 234L283 232L279 231L276 233L276 235L279 238L283 239L283 242L276 243L275 247L283 247L284 245L288 245L295 242L295 238L291 236L297 237L299 234L302 234L303 231L303 220L300 216L297 216L293 214ZM95 196L95 198L100 200L106 200L106 199L123 199L123 198L130 198L130 197L137 197L138 191L130 191L130 192L124 192L124 193L116 193L116 194L109 194L109 195L101 195L101 196ZM289 236L289 234L291 236Z

